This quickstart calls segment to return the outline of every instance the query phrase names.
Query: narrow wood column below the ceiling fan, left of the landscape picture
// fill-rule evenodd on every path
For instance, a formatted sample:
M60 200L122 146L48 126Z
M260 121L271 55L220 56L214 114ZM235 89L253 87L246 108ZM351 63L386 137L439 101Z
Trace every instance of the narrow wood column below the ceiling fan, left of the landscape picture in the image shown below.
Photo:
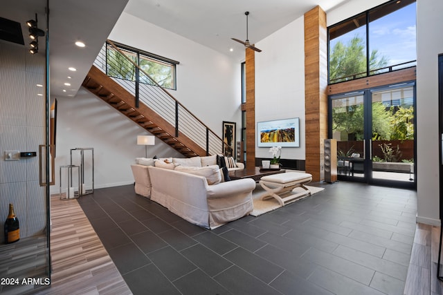
M255 167L255 51L246 48L246 169Z

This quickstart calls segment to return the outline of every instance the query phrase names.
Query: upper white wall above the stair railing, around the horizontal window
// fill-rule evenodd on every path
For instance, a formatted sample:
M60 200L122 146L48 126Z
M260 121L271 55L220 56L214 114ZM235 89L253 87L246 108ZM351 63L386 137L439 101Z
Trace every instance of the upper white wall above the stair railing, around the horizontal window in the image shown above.
M109 39L180 61L170 93L221 136L222 121L241 120L240 62L123 12ZM238 137L240 138L240 137Z

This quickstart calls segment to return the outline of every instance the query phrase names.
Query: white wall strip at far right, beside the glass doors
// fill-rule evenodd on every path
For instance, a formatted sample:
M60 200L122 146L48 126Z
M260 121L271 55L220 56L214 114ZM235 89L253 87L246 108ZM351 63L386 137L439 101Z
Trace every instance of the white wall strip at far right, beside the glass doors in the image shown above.
M417 1L417 221L440 225L438 55L443 1Z

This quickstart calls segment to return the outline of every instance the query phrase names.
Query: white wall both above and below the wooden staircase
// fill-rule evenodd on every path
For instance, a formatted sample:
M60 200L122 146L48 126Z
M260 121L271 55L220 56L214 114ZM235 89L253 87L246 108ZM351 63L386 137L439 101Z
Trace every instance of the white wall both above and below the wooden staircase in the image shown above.
M125 12L109 39L180 61L177 91L169 92L220 137L223 121L237 122L239 140L239 61ZM76 147L94 148L96 189L134 182L130 164L145 155L145 147L136 145L136 137L149 133L83 88L75 97L57 100L56 184L51 193L58 193L59 166L69 164L70 150ZM148 146L148 157L154 155L183 157L158 138L155 146Z

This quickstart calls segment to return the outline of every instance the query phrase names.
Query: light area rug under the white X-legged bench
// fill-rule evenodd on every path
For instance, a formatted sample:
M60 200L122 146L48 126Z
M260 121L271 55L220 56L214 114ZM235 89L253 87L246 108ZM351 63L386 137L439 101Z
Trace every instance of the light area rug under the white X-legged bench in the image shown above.
M316 193L319 193L320 191L325 190L325 189L323 189L323 187L310 187L309 185L305 185L305 187L307 187L311 191L311 196ZM305 190L302 189L301 187L296 187L295 189L293 189L291 191L291 193L299 193L300 191L305 191ZM257 187L253 190L252 198L253 198L254 210L250 213L252 216L259 216L259 215L262 215L262 214L267 213L269 211L272 211L272 210L282 207L278 203L278 200L275 200L274 198L267 199L267 200L260 200L260 196L262 196L262 194L264 192L265 192L265 190L262 188L262 186L260 184L257 184ZM288 196L288 194L285 196ZM300 196L300 198L296 198L295 200L292 200L291 202L296 202L296 201L302 200L306 197L309 197L309 196L307 196L307 195ZM291 202L288 202L287 204L290 204Z

